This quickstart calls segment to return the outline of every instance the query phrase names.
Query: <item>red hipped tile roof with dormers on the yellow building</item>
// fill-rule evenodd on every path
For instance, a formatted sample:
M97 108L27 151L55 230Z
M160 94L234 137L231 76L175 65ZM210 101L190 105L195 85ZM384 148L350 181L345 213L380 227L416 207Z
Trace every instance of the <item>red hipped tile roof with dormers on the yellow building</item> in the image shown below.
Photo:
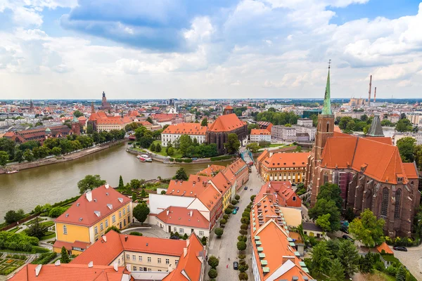
M93 226L106 216L132 201L112 187L101 185L91 191L92 200L87 200L87 193L81 195L72 207L56 218L56 223L71 223L77 226ZM111 209L110 209L111 208ZM99 213L98 213L99 212ZM81 220L82 218L82 220Z

